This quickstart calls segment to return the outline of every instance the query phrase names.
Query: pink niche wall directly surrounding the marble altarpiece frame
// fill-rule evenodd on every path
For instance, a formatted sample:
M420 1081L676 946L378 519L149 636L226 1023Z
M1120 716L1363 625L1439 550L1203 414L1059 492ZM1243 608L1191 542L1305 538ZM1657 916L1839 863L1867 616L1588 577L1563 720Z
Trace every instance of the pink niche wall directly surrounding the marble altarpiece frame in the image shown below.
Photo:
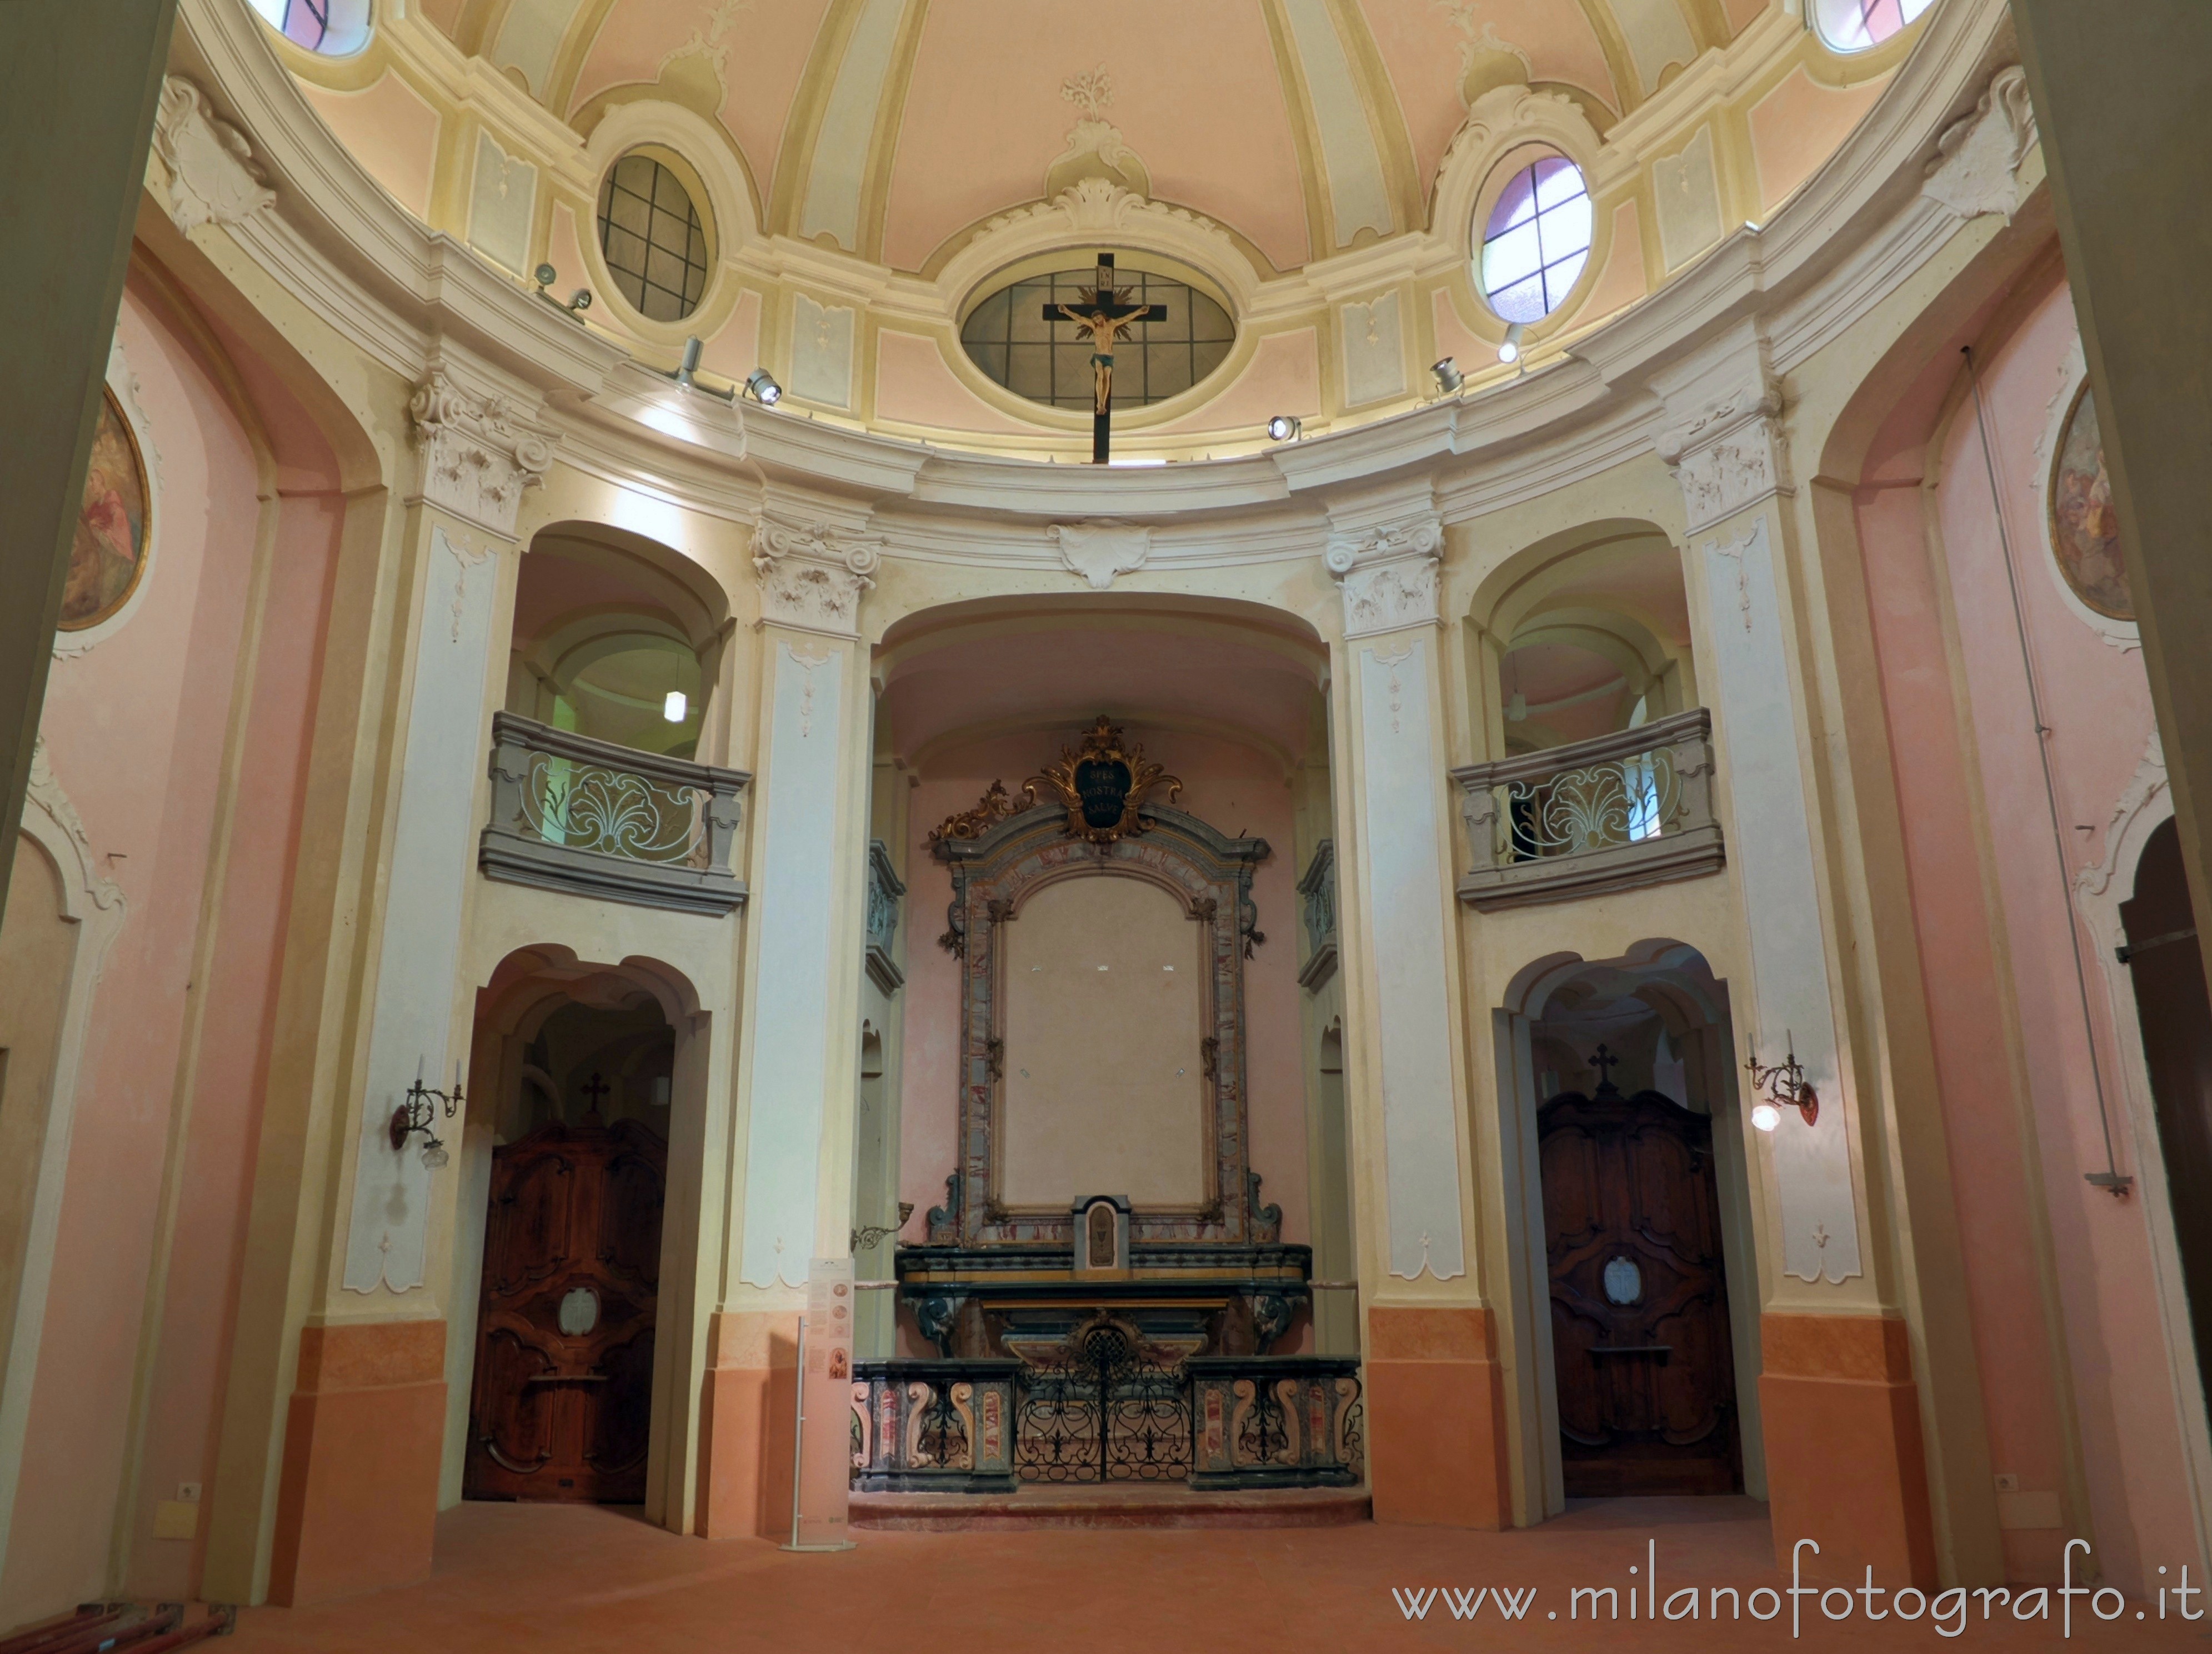
M1146 756L1183 778L1179 809L1223 834L1265 838L1272 856L1259 865L1252 900L1267 942L1245 962L1245 1088L1252 1121L1252 1170L1265 1183L1261 1198L1283 1207L1283 1238L1310 1243L1305 1201L1305 1077L1298 1053L1298 918L1292 867L1292 798L1281 761L1221 736L1126 725ZM993 781L1020 789L1022 781L1057 754L1053 736L1015 734L978 741L933 756L909 803L914 842L907 847L907 944L900 1198L914 1201L902 1238L920 1240L929 1207L945 1203L945 1174L953 1170L958 1126L960 973L936 946L951 900L951 876L929 849L929 829L956 809L969 809ZM1144 1037L1141 1030L1128 1030ZM1108 1190L1110 1192L1110 1190ZM1283 1347L1287 1351L1287 1344Z

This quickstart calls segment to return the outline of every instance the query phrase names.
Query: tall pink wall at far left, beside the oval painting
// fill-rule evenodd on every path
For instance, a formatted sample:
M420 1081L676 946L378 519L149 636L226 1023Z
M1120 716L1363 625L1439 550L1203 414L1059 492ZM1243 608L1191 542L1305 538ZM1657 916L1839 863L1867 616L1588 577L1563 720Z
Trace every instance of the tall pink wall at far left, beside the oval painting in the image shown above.
M184 1597L197 1581L199 1543L155 1541L153 1501L177 1497L181 1482L212 1484L341 511L336 464L314 422L237 341L217 341L276 440L276 553L259 637L248 637L261 517L252 442L206 358L208 343L177 325L155 287L131 283L119 336L159 451L153 562L128 626L82 659L55 663L42 732L95 865L124 887L131 913L93 1002L77 1084L4 1581L7 1601L24 1612L97 1597L111 1583L179 1110L188 1110L188 1137L128 1585ZM254 659L254 670L226 856L219 794L241 659ZM210 880L221 880L219 891ZM215 946L206 980L195 982L210 896Z

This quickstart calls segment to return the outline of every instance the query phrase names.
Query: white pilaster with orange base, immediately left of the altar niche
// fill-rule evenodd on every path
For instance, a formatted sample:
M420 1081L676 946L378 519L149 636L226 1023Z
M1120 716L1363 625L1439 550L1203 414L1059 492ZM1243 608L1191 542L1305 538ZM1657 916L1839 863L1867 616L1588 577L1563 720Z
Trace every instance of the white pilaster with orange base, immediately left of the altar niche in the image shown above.
M787 1537L796 1338L814 1258L852 1243L867 876L860 599L880 542L825 502L754 528L754 834L730 1240L708 1333L697 1528ZM838 1415L821 1428L845 1431Z

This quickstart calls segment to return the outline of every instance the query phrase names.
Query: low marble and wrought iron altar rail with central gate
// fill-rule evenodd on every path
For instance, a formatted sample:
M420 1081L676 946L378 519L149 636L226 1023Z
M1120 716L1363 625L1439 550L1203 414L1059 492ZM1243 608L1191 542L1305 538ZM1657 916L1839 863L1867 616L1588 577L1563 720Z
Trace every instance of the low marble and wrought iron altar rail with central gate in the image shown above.
M1057 1362L854 1362L852 1484L1013 1493L1020 1484L1356 1486L1358 1360L1190 1355L1088 1327Z

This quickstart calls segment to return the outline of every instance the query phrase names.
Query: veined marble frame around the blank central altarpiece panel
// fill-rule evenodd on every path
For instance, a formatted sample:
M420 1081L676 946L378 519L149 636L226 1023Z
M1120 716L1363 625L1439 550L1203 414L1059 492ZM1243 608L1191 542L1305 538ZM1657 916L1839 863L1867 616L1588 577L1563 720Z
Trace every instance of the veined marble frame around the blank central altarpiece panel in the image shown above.
M953 876L949 920L960 955L962 1081L960 1159L947 1179L945 1205L929 1212L931 1245L1075 1243L1066 1205L1004 1210L998 1203L1002 1079L995 1070L1004 1066L998 931L1015 922L1040 889L1086 876L1148 880L1175 896L1210 938L1203 1024L1219 1041L1206 1099L1214 1145L1210 1201L1203 1207L1137 1212L1128 1238L1256 1243L1279 1234L1283 1216L1259 1203L1259 1176L1252 1172L1243 1015L1243 955L1259 940L1252 871L1267 858L1267 840L1225 838L1181 809L1155 807L1144 818L1141 834L1086 845L1068 834L1066 809L1037 805L982 838L942 838L936 845L938 860L949 862Z

